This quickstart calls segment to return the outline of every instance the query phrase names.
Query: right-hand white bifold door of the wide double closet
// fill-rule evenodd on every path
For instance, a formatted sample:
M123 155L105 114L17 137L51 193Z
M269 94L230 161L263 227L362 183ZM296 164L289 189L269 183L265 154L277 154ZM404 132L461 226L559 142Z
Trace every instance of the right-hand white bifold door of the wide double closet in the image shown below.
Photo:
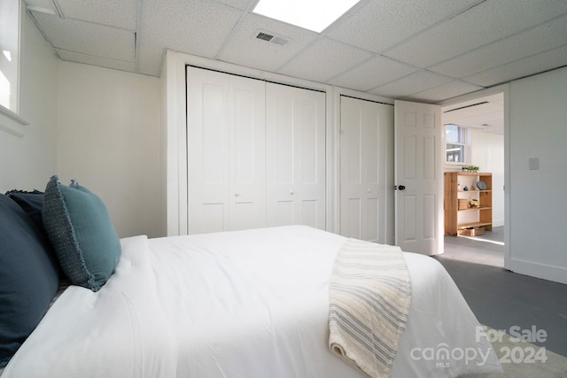
M266 84L267 224L325 229L325 94Z

